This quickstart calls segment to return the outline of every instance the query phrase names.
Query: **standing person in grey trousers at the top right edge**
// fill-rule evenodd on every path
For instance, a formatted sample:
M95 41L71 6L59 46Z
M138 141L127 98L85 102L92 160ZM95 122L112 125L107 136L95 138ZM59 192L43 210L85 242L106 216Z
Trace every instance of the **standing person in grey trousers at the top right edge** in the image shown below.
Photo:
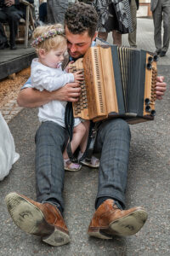
M170 0L151 0L150 10L154 20L156 54L164 57L170 39ZM161 44L161 21L163 20L163 45Z

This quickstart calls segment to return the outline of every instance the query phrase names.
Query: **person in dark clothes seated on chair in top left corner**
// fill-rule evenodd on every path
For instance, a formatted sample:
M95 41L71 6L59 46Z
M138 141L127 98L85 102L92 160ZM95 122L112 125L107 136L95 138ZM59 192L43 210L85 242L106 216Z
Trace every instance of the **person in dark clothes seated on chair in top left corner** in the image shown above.
M34 0L27 0L34 3ZM20 18L26 18L26 6L20 0L0 0L0 22L8 22L10 49L17 49L15 38Z

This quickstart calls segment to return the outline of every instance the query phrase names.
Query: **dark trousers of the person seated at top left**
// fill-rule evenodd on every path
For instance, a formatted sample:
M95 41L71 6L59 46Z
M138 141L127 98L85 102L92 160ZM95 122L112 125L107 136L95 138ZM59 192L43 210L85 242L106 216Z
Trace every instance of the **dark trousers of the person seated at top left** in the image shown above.
M14 40L18 32L18 24L20 18L21 15L18 13L18 10L14 8L14 6L4 7L0 10L0 22L7 22L9 26L9 43L11 46L14 46L15 44Z

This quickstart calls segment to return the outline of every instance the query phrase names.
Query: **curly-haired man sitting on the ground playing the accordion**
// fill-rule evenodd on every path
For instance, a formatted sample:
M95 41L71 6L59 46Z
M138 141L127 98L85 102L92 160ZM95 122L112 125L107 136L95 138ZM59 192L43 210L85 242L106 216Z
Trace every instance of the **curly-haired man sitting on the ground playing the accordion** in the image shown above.
M73 4L65 14L68 52L76 60L83 56L96 37L97 14L85 3ZM162 77L157 79L157 98L166 90ZM27 88L20 91L20 106L35 108L52 100L77 102L78 84L65 84L53 93ZM21 230L42 237L42 241L60 246L70 241L63 218L64 165L62 151L67 143L64 128L51 122L40 125L36 134L37 201L25 195L6 196L8 212ZM88 235L111 239L111 235L130 236L138 232L147 218L142 207L125 208L125 188L130 146L130 131L123 119L111 119L99 126L95 151L101 152L96 212ZM83 203L83 202L82 202Z

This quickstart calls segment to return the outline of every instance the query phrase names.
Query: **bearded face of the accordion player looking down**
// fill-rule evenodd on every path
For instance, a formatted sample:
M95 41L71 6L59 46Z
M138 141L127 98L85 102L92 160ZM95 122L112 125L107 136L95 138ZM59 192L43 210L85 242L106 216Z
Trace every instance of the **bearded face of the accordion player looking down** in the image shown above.
M90 38L88 31L82 34L72 34L68 27L65 26L65 36L67 39L68 53L72 58L77 59L82 57L87 52L88 48L91 46L92 41L96 38L96 34L93 38Z

